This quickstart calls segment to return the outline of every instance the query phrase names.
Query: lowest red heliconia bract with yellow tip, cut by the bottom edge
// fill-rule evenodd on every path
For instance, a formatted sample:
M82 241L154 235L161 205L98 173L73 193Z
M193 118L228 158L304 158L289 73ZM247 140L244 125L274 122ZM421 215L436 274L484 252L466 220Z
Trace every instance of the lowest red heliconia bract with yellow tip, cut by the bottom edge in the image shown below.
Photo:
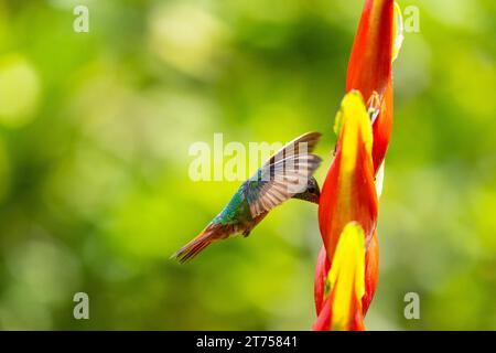
M341 233L324 288L324 304L313 329L365 330L365 234L358 223L348 223Z

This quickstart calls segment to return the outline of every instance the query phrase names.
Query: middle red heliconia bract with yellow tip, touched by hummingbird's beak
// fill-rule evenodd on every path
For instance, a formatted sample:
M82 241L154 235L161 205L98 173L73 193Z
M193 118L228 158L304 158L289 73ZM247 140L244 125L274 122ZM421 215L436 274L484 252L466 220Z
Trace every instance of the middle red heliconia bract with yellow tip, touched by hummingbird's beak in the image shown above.
M349 222L364 229L366 245L370 243L377 221L377 195L371 160L373 133L362 95L352 90L336 115L339 136L334 160L322 186L319 225L332 264L334 252Z

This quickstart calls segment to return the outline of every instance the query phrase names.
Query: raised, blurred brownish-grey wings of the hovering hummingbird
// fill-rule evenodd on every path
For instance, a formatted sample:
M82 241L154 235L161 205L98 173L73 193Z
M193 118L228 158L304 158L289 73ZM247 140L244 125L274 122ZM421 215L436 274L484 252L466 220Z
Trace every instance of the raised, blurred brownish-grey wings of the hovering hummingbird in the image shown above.
M321 133L309 132L277 151L244 185L251 217L268 212L303 192L322 162L311 152Z

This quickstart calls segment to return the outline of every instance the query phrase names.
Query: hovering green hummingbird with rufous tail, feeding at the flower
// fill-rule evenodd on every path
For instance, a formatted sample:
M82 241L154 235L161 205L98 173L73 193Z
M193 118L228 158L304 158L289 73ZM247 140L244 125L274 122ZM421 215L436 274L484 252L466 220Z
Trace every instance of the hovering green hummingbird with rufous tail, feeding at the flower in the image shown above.
M185 263L213 242L238 234L247 237L270 210L288 199L319 204L320 189L313 173L322 159L311 152L320 138L319 132L308 132L277 151L239 186L205 229L172 257Z

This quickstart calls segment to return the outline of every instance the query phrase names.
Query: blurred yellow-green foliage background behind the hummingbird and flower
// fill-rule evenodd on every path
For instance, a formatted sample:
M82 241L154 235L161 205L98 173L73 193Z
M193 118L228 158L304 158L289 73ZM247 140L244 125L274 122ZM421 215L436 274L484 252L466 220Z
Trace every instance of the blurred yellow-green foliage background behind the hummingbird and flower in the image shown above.
M367 329L495 330L495 1L399 2L420 32L395 63ZM89 33L73 31L80 3ZM239 185L188 178L190 146L214 132L322 131L323 181L362 6L0 0L0 329L310 329L314 205L186 266L169 256ZM403 317L411 291L420 320Z

